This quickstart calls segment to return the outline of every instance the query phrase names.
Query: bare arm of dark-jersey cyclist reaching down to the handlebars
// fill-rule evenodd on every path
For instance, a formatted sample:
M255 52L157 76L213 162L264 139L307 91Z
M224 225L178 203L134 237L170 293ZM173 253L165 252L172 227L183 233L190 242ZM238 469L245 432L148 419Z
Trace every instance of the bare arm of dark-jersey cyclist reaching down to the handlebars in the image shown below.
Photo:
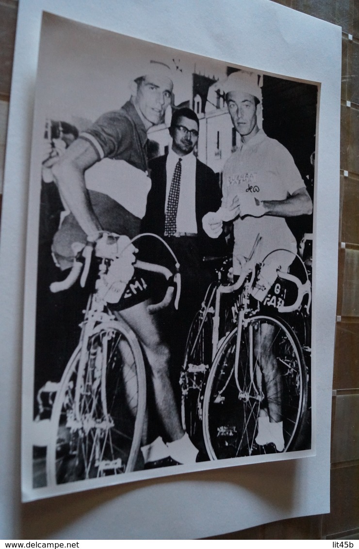
M101 230L85 186L85 171L98 161L95 150L84 139L77 139L52 166L60 194L87 235Z

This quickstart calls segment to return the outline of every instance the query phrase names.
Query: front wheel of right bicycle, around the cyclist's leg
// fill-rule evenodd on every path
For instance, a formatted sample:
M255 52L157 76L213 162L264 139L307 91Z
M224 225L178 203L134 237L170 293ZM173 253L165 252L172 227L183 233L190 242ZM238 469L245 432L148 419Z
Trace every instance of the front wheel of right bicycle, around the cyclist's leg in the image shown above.
M203 402L203 436L211 460L277 451L274 444L255 443L259 411L266 404L266 396L254 351L251 373L250 349L253 349L253 329L259 329L262 323L275 327L273 351L283 382L283 451L302 450L307 444L302 433L308 412L307 370L299 341L283 320L257 315L242 328L238 379L234 365L237 328L223 341L209 372Z

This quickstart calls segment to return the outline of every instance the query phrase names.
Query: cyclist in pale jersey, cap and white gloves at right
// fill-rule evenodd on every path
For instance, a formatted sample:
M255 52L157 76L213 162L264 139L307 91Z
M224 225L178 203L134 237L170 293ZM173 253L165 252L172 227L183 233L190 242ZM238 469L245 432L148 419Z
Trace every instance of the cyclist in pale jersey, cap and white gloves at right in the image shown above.
M240 275L249 259L252 263L261 262L271 251L285 249L296 253L296 240L285 218L310 215L313 208L292 156L259 127L262 114L260 82L260 75L240 70L232 73L224 83L231 121L241 139L238 149L224 166L222 206L217 212L209 212L203 217L203 228L212 238L222 233L223 221L233 220L235 275ZM251 256L253 249L255 252ZM281 270L289 267L293 257L286 252L280 257L276 254ZM275 269L273 273L275 277ZM261 340L261 355L264 356L261 369L268 410L263 410L259 417L256 442L258 445L273 443L277 451L283 451L281 378L271 350L274 329L263 323L260 330L256 337L257 341Z

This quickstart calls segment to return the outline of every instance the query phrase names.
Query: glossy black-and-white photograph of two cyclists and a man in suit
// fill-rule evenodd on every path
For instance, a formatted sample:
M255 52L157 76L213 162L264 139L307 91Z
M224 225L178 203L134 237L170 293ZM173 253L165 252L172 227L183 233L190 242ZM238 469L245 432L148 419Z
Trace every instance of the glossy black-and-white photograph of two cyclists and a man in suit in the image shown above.
M26 500L313 455L319 87L262 69L43 14Z

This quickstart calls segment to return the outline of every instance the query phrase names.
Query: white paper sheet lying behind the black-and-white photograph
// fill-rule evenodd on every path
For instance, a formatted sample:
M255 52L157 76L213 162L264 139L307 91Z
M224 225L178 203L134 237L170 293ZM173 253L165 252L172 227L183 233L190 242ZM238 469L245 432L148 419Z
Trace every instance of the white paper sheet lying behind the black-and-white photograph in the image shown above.
M217 13L218 7L214 3L197 4L195 7L181 3L174 5L173 18L161 2L154 4L151 14L147 13L142 3L119 6L115 2L107 2L91 9L88 5L84 8L85 5L79 3L74 7L65 2L38 2L36 5L31 3L31 6L23 2L19 10L1 248L5 328L2 341L7 341L2 352L5 365L5 383L2 386L6 388L8 409L14 410L7 414L2 425L4 436L9 440L9 447L2 449L5 451L3 463L7 464L9 472L3 496L8 503L12 501L3 515L7 517L7 530L4 529L4 532L8 533L4 537L15 537L12 532L19 528L16 520L19 471L14 460L14 453L19 455L19 449L14 449L14 440L9 438L8 433L14 435L19 430L18 422L14 420L19 411L16 396L19 395L22 250L27 194L24 182L28 179L41 9L186 51L321 83L317 200L318 204L325 204L325 208L322 211L319 209L317 215L318 268L314 279L318 304L314 311L314 340L321 344L314 349L319 395L316 457L290 463L192 473L187 477L172 477L152 483L146 481L134 485L133 490L132 486L103 489L101 496L99 492L88 492L87 505L92 503L91 511L86 506L87 514L84 514L85 509L81 510L84 502L81 495L63 498L64 512L57 514L56 518L54 509L58 508L58 503L54 502L53 507L51 501L45 505L33 503L26 506L25 529L26 520L33 523L37 517L38 531L45 531L49 537L184 538L326 512L329 505L330 397L338 231L340 29L269 2L226 2L220 13ZM183 23L179 25L179 21ZM201 47L198 46L199 37L202 38ZM323 55L321 46L324 41L332 47L330 55L328 48ZM24 105L30 105L27 115L24 115ZM233 513L235 508L239 509L238 513ZM67 513L71 516L70 522L66 518ZM75 515L78 518L73 520ZM50 522L53 526L45 526Z

